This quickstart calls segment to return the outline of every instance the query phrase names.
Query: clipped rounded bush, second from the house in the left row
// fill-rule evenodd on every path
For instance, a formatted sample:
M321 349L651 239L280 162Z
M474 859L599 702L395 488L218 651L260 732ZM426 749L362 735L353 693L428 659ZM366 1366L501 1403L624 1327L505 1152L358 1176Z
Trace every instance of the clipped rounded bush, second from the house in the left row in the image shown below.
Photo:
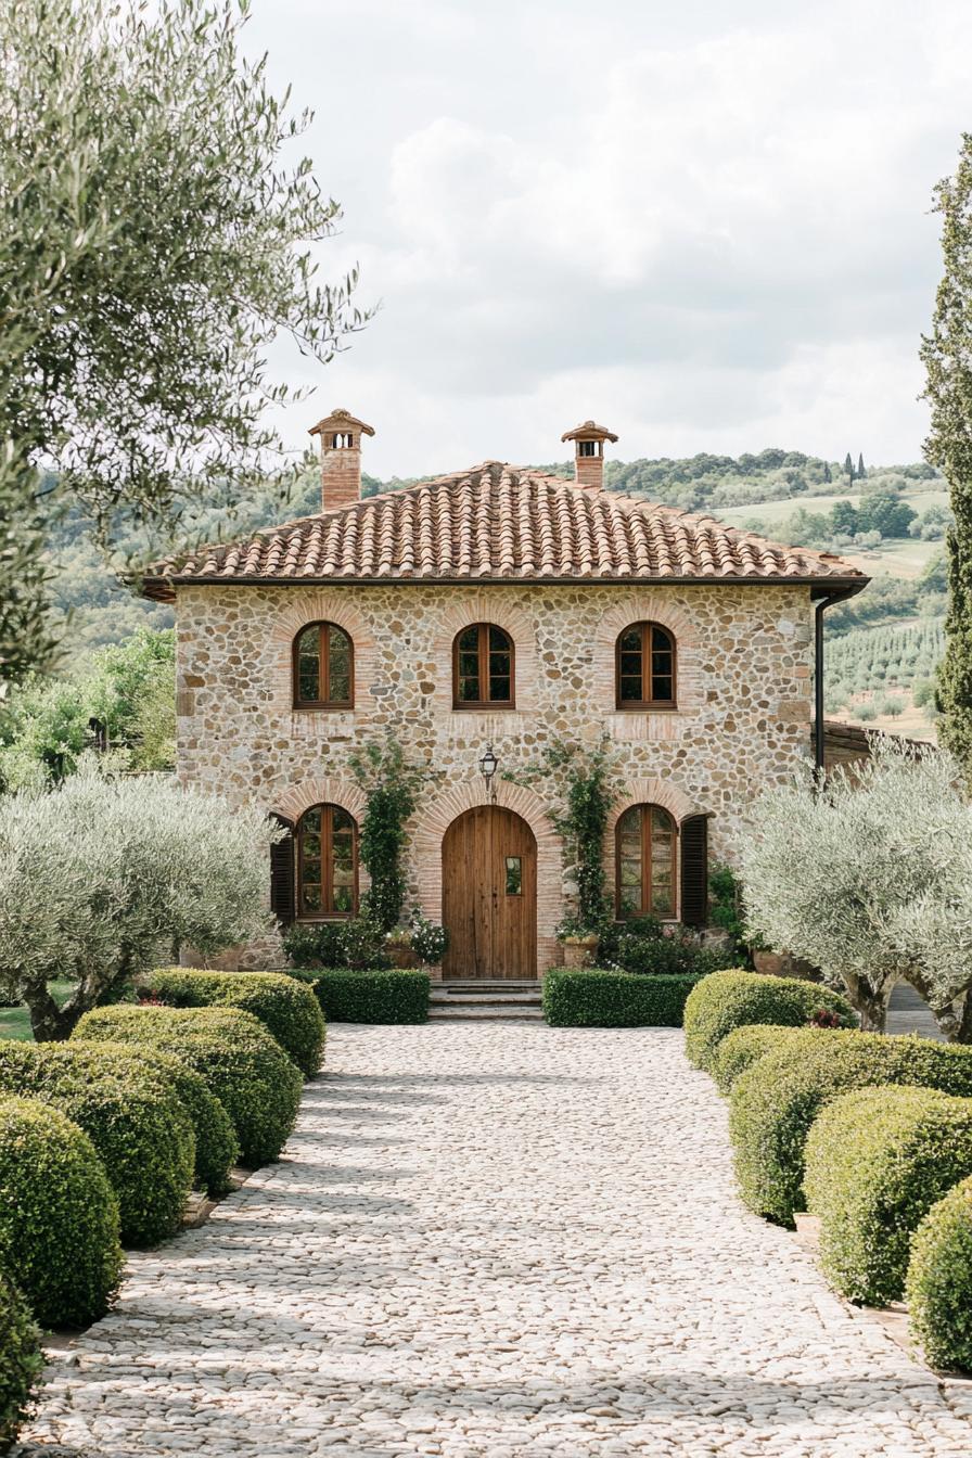
M85 1013L76 1035L96 1042L150 1042L175 1053L229 1114L248 1168L275 1159L287 1143L300 1104L300 1070L252 1013L119 1003Z

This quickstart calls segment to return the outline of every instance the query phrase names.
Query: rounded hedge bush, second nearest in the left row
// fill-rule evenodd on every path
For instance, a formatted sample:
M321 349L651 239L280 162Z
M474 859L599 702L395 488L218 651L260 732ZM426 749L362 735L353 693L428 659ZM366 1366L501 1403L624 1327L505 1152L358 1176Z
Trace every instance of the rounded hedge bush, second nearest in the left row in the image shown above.
M118 1290L118 1197L87 1134L38 1099L0 1098L0 1266L45 1327L87 1325Z

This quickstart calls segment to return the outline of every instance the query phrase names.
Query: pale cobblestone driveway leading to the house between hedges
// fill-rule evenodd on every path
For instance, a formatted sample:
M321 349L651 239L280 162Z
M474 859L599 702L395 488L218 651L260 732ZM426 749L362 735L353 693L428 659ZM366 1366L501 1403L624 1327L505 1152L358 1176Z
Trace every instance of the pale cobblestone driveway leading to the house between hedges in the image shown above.
M335 1026L289 1158L68 1363L31 1436L85 1458L972 1452L736 1203L675 1031Z

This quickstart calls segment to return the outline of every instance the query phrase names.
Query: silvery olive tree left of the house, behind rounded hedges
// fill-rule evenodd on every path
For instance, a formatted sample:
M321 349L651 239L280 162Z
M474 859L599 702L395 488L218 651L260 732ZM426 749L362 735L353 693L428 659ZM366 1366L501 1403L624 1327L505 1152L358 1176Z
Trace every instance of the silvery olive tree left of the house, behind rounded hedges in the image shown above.
M213 956L271 926L262 811L181 789L165 774L105 777L0 798L0 993L38 1040L181 946ZM51 981L74 987L58 1007Z

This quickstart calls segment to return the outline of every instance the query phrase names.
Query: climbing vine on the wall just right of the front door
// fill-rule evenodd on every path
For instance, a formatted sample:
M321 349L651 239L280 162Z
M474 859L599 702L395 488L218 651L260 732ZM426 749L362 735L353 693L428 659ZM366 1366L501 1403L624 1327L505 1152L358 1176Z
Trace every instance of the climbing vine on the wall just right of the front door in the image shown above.
M611 789L608 744L596 749L555 739L541 763L516 774L519 783L545 779L558 789L558 805L549 815L564 844L564 869L577 884L576 910L561 923L561 935L600 933L611 920L605 885L603 844L615 795Z

